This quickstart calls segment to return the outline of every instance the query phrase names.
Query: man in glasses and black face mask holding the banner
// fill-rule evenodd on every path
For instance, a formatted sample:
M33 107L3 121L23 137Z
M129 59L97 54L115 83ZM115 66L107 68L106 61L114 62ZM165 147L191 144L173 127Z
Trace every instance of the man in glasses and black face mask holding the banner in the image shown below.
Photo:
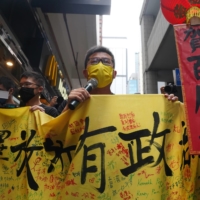
M46 114L57 117L58 111L54 107L46 106L40 102L40 95L45 87L41 74L26 71L20 77L19 95L26 106L31 106L30 111L40 110Z

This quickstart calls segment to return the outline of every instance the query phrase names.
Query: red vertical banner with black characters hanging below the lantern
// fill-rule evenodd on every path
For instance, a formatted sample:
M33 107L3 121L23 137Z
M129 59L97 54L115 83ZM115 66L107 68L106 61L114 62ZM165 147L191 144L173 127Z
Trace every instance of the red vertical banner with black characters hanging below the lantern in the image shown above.
M200 26L175 25L174 31L190 153L200 154Z

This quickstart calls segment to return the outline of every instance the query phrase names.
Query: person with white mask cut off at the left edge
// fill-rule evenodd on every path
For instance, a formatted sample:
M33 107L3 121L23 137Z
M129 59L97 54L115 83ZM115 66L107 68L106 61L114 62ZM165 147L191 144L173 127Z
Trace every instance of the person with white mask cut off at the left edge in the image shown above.
M6 77L0 77L0 108L16 108L17 105L13 100L15 84L14 82ZM1 94L1 91L4 91ZM6 95L6 97L5 97Z

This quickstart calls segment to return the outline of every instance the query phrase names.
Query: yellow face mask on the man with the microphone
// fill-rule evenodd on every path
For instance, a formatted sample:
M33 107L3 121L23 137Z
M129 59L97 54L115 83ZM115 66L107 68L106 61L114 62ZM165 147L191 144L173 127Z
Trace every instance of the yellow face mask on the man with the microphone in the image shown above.
M96 78L98 81L98 88L103 88L109 85L113 80L113 68L103 65L101 62L97 65L90 65L87 68L88 80Z

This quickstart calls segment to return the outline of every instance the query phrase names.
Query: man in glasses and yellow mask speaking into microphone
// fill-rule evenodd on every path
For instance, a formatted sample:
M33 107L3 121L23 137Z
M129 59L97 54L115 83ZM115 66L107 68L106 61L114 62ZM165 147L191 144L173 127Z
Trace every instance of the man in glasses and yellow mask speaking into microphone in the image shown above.
M85 56L85 69L83 74L87 80L95 78L98 81L97 88L91 91L91 94L98 95L113 95L111 84L117 75L115 70L115 58L112 52L103 46L94 46L89 49ZM173 94L164 94L170 101L177 101L178 98ZM59 112L64 112L68 109L69 103L76 99L83 102L90 98L90 93L84 88L74 89L70 92L68 100L64 100L58 108Z

